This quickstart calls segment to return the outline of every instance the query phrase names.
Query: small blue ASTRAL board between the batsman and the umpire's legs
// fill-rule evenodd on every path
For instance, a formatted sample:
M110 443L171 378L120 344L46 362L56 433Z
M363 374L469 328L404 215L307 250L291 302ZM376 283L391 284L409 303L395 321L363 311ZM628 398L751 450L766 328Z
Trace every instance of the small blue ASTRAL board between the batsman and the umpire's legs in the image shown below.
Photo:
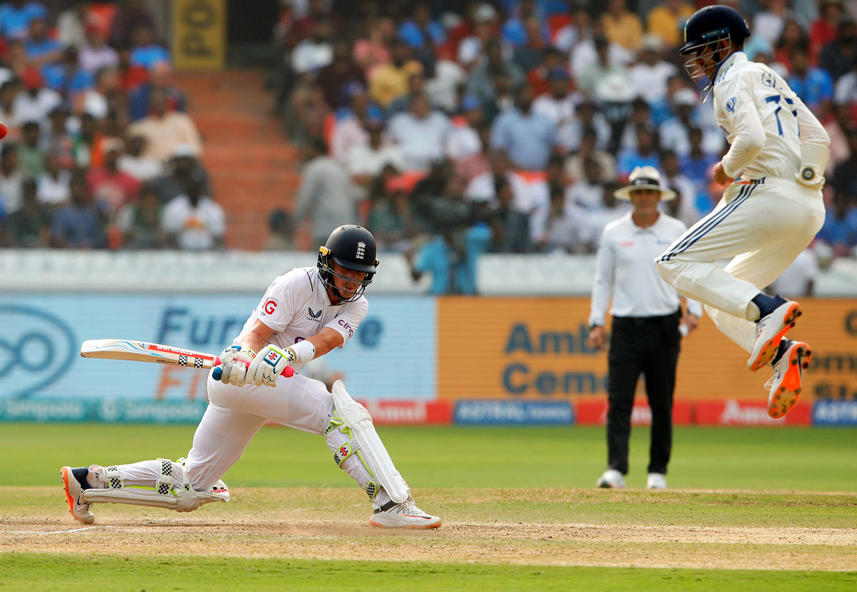
M480 423L555 423L573 424L574 411L569 401L507 401L473 399L455 404L453 422Z

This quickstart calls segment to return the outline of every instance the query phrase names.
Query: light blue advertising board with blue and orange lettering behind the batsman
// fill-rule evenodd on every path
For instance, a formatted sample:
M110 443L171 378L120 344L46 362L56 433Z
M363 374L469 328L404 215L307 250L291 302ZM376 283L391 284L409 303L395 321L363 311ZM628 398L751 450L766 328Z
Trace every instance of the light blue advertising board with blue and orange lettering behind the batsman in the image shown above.
M123 338L219 354L240 332L261 295L39 295L0 297L0 401L205 401L206 373L189 368L84 359L86 339ZM355 398L434 400L436 307L414 296L369 298L369 314L342 350L302 374L342 378ZM50 407L3 416L50 415ZM68 411L69 421L77 411ZM90 413L90 411L86 411ZM95 419L114 421L95 411ZM141 418L146 410L123 408ZM157 415L160 411L152 411ZM182 410L180 416L195 411ZM108 414L110 415L110 414ZM12 417L7 417L11 419ZM50 419L50 417L46 417ZM116 421L145 421L122 419ZM165 420L169 421L169 420Z

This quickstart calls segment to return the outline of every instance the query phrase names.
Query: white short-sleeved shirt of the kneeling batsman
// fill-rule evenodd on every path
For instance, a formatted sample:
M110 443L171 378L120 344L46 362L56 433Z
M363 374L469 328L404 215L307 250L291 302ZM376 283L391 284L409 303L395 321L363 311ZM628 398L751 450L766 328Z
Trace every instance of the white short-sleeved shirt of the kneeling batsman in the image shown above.
M325 327L339 332L345 345L368 311L369 302L363 296L334 306L327 297L318 267L296 267L273 280L232 343L237 343L258 319L274 331L268 343L281 348L312 337ZM291 364L296 369L301 365Z

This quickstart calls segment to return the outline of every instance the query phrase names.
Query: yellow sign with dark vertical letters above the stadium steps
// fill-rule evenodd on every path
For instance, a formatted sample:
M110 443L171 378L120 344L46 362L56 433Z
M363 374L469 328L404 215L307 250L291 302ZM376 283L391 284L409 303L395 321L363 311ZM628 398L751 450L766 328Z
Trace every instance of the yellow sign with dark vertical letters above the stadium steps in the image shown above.
M174 0L172 5L172 55L176 68L223 68L226 56L225 0Z

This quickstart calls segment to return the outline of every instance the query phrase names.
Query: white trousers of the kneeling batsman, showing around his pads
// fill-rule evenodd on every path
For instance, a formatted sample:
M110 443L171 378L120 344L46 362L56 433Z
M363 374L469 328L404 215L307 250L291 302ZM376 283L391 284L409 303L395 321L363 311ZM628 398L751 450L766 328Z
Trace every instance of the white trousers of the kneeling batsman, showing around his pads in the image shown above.
M333 395L327 392L324 383L301 374L280 377L276 386L232 386L214 380L209 373L207 392L208 408L196 428L194 445L184 463L190 485L198 491L212 487L237 463L267 420L311 434L324 434L330 417L335 415ZM332 429L325 438L331 451L338 451L348 441L339 429ZM331 465L335 468L333 459ZM345 458L341 466L365 491L371 476L357 454ZM157 460L122 464L118 469L125 485L152 487L160 475ZM181 471L177 466L172 474L173 486L181 488ZM381 488L373 503L378 507L389 500Z

